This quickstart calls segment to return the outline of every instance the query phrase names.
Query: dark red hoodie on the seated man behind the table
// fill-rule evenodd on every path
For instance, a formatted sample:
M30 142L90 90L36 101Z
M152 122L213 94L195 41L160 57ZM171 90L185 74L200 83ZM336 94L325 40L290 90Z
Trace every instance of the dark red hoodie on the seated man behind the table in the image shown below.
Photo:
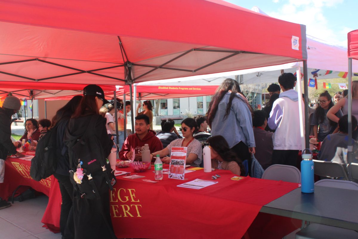
M121 151L119 152L119 158L127 160L127 153L135 149L135 153L141 152L142 146L144 144L149 145L149 150L151 153L162 150L163 144L160 142L160 139L155 136L156 133L153 130L148 130L148 133L145 137L140 140L137 134L131 134L127 137L124 142Z

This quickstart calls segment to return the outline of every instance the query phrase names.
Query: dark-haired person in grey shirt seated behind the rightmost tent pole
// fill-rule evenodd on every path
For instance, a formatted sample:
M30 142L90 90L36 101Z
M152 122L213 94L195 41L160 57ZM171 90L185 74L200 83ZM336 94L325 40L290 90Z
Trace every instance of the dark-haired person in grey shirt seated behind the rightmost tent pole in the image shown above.
M329 134L321 143L321 148L317 156L321 161L338 162L347 165L348 153L348 115L343 115L338 121L338 133ZM357 129L357 118L352 115L352 132ZM355 141L352 139L353 145Z

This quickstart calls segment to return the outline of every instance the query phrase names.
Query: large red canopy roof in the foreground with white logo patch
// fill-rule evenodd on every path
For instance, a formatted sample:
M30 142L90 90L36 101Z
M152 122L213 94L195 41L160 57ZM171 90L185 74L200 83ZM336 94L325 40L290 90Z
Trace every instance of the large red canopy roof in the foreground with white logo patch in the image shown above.
M305 60L305 26L219 0L0 0L0 81L124 85Z

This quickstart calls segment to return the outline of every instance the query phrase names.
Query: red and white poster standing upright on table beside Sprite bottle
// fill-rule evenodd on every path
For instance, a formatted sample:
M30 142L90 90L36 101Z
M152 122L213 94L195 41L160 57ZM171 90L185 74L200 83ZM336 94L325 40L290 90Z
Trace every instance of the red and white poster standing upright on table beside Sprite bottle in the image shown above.
M184 180L187 147L172 147L170 153L169 178Z

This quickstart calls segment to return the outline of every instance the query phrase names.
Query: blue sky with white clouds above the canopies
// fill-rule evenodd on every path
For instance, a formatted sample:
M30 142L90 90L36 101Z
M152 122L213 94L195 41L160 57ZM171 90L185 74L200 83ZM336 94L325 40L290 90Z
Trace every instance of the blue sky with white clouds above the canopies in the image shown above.
M357 0L226 0L267 15L306 25L306 33L347 48L347 33L358 29Z

